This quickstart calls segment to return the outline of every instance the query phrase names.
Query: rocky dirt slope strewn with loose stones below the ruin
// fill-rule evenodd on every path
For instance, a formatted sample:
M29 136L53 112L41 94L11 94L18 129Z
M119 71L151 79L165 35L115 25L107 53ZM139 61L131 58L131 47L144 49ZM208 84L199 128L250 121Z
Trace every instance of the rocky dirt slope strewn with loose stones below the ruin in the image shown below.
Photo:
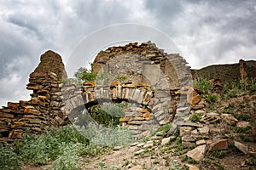
M220 102L221 101L221 102ZM190 118L189 118L190 117ZM89 169L256 169L256 94L219 100L190 111L178 133L162 127L148 139L115 147L108 154L83 157ZM167 137L168 136L168 137ZM22 169L50 167L24 165Z

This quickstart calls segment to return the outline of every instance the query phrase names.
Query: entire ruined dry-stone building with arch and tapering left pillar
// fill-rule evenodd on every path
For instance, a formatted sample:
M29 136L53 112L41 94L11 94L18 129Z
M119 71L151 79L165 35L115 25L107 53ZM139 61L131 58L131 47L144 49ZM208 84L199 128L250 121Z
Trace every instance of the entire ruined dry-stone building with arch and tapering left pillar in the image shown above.
M73 84L61 82L62 77L67 77L61 56L47 51L30 75L26 88L32 90L31 99L8 102L0 109L0 142L12 143L21 139L26 128L39 134L46 126L67 125L71 123L68 116L72 117L73 110L81 106L88 108L101 99L134 103L136 107L125 110L120 123L137 137L146 135L148 130L172 122L174 116L181 116L183 111L190 109L190 104L195 109L203 106L192 87L183 87L189 81L189 66L186 64L178 54L166 54L154 43L129 43L101 51L92 65L92 71L127 75L125 82ZM113 66L118 69L113 69ZM153 89L151 86L156 87L163 77L166 80L162 83L164 85L158 90ZM195 98L191 102L192 93Z

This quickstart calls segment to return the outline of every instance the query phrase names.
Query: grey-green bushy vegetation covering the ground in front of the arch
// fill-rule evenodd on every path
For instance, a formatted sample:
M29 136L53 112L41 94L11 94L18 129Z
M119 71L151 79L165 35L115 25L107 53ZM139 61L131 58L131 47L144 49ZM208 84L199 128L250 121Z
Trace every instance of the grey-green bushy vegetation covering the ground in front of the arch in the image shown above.
M87 129L77 131L73 126L49 130L35 136L28 131L21 143L15 142L11 147L0 145L0 169L20 169L20 163L45 165L54 161L52 169L80 169L81 156L97 156L111 150L115 144L130 144L133 141L127 129L115 127L111 129L95 128L93 139L85 138ZM90 129L89 129L90 131ZM88 133L88 132L87 132ZM101 135L99 135L101 134Z

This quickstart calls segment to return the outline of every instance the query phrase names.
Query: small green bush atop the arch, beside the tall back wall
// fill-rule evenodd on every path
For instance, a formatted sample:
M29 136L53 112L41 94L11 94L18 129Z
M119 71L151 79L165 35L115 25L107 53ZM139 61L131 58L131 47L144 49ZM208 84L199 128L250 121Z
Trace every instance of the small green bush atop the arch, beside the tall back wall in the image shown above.
M92 82L96 79L96 73L91 72L85 67L80 67L73 76L77 78L78 82Z

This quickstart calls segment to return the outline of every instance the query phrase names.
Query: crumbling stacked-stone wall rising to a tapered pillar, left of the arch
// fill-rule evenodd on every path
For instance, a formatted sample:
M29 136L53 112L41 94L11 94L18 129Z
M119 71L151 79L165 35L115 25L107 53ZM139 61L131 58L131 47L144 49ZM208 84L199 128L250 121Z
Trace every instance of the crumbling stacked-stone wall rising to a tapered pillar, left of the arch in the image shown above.
M68 123L61 98L61 77L66 74L64 69L59 54L47 51L41 56L41 62L30 75L26 87L32 90L31 99L8 102L0 109L1 143L21 139L27 128L38 134L43 133L46 126L60 127Z

